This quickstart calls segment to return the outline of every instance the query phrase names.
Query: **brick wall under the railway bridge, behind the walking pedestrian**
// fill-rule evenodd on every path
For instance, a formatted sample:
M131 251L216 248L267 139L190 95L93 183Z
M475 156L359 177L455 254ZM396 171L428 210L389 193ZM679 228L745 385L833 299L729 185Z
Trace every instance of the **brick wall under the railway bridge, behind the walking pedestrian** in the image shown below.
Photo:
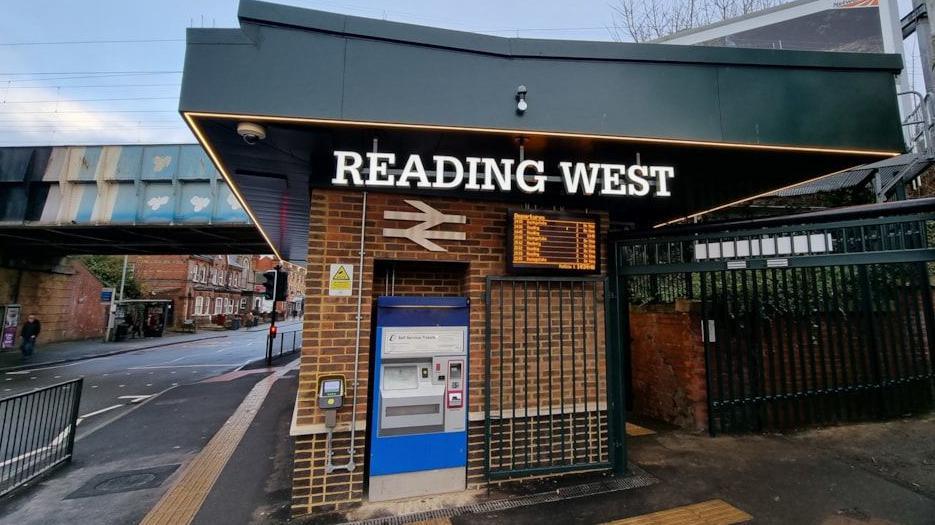
M19 280L19 297L15 285ZM100 302L103 285L76 260L56 272L0 268L0 304L22 306L20 320L30 313L42 323L38 343L74 341L104 336L107 308ZM20 325L22 328L22 325ZM19 342L17 331L17 344Z

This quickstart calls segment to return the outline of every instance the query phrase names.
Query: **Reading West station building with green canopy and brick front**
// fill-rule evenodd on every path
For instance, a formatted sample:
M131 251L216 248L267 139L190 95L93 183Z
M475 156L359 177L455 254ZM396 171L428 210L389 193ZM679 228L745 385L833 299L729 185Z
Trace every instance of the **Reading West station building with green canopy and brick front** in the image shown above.
M691 265L786 253L632 236L904 148L898 56L509 39L253 0L239 18L189 29L180 111L271 249L307 267L296 514L626 475L629 383L654 374L631 342L715 338L637 318L621 268L673 264L710 291L724 281ZM820 251L774 237L795 243L787 266ZM704 353L674 358L690 420L732 406L706 401Z

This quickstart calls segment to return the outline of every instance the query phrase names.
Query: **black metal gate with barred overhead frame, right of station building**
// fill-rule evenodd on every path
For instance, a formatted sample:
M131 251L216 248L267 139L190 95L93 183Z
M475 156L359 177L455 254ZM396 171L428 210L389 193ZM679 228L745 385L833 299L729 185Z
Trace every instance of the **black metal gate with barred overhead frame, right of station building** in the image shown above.
M712 434L928 410L933 220L748 223L624 240L623 306L700 303Z

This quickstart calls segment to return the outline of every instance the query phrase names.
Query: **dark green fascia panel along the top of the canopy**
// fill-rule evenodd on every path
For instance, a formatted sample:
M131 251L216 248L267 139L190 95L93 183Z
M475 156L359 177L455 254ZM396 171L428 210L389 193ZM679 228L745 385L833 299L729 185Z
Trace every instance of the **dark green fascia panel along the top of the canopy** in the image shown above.
M903 149L898 56L505 39L254 1L240 15L189 30L182 111Z

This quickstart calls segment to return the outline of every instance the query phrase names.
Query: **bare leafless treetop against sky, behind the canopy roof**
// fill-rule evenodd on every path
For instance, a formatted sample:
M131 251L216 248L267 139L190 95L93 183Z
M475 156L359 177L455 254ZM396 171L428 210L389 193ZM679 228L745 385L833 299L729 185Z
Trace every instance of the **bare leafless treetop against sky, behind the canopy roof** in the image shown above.
M616 0L611 4L611 37L648 42L679 31L703 27L761 11L788 0Z

